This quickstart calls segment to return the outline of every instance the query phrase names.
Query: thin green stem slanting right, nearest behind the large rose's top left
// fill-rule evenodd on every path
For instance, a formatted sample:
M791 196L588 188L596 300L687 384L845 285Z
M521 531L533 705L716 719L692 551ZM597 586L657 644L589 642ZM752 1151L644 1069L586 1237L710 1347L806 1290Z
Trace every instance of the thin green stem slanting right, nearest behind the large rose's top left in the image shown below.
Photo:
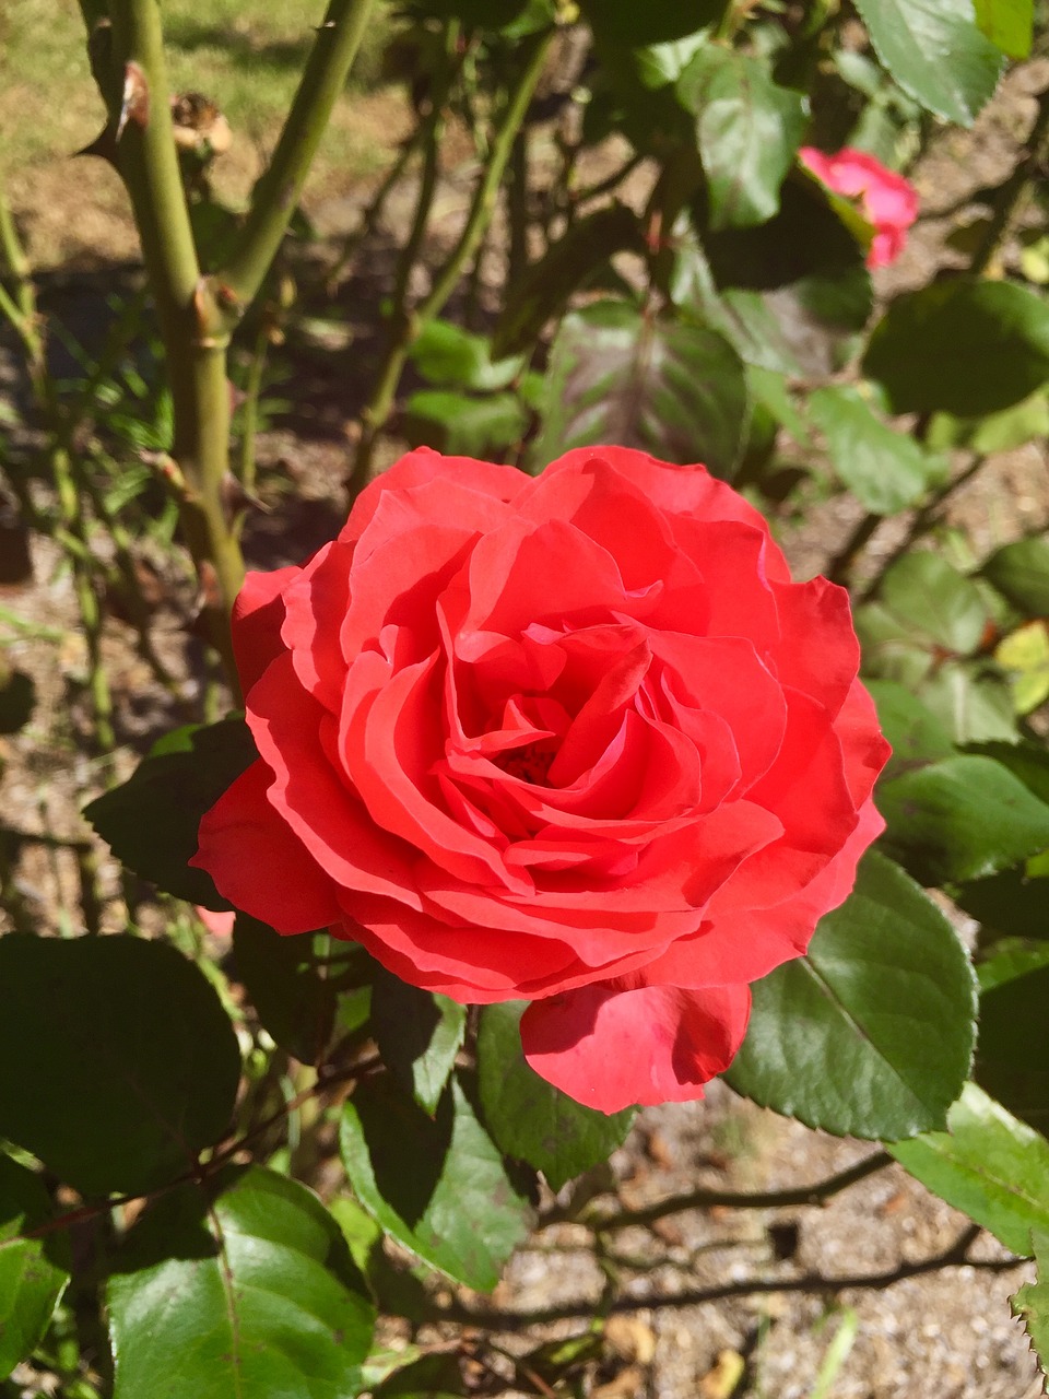
M504 111L499 129L492 139L488 164L485 165L484 175L474 190L466 225L459 235L459 241L448 257L443 269L435 277L429 294L424 297L414 312L408 315L401 309L401 315L397 320L394 320L393 336L386 350L386 357L376 376L375 388L368 406L361 414L361 438L357 445L354 467L347 483L351 499L355 498L368 484L375 442L393 411L397 386L400 385L400 376L404 371L404 364L408 358L408 351L411 350L413 343L418 337L422 326L432 316L439 313L448 298L455 291L463 269L469 263L470 257L477 252L477 248L480 246L481 239L484 238L484 234L491 222L495 211L495 197L506 171L506 162L509 161L511 151L513 148L513 140L522 122L524 120L529 104L531 102L531 97L536 91L536 84L543 74L543 66L545 63L552 38L554 31L550 29L534 35L526 45L522 46L524 52L524 64L518 78L518 85L512 91Z

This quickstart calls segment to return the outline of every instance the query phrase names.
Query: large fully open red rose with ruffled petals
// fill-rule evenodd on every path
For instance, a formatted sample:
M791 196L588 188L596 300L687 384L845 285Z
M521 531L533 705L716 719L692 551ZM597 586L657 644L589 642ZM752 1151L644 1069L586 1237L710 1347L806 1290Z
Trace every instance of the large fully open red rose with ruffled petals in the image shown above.
M702 1097L883 828L843 589L701 466L411 452L234 645L259 760L193 863L460 1002L579 1102Z

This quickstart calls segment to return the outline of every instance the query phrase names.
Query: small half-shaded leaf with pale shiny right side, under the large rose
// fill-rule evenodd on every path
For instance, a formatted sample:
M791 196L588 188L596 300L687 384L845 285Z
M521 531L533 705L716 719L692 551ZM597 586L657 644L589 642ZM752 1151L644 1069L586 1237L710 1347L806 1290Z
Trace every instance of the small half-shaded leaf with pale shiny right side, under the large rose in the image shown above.
M386 1067L424 1112L434 1114L466 1034L466 1006L379 970L372 1030Z

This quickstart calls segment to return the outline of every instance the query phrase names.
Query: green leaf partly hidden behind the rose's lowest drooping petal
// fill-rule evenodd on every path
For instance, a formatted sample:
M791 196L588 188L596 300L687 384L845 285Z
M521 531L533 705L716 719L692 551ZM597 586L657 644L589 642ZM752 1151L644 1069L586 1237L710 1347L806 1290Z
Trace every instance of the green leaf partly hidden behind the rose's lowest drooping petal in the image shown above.
M484 1123L506 1156L543 1171L551 1189L607 1161L622 1146L635 1109L594 1112L540 1079L520 1046L526 1002L485 1006L477 1037Z

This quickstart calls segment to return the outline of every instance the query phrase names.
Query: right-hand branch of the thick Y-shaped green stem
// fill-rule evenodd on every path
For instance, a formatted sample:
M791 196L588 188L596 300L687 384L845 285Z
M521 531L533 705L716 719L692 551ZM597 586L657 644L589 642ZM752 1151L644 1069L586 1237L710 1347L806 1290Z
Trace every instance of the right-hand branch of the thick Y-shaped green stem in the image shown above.
M277 148L217 281L243 311L269 271L298 206L316 148L361 46L373 0L330 0Z

